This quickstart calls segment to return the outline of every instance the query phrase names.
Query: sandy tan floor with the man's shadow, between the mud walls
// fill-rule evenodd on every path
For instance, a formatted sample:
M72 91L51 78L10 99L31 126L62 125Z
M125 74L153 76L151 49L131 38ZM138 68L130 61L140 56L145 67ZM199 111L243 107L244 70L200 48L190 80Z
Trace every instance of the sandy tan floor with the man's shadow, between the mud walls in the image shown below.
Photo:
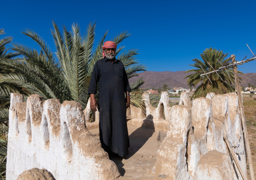
M157 140L158 131L130 124L127 124L127 127L130 139L129 155L125 158L110 157L116 163L121 174L118 179L163 179L161 175L154 173L153 168L161 143ZM90 131L99 137L99 129Z

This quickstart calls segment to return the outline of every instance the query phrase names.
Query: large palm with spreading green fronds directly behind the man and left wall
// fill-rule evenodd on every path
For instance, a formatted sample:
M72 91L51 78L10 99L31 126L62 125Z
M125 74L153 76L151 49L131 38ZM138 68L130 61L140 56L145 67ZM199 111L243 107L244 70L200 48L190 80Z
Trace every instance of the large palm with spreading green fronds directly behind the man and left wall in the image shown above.
M88 88L93 66L102 58L101 46L107 36L107 32L94 48L96 23L89 24L85 36L81 36L78 24L73 24L71 31L63 26L61 33L53 22L51 34L55 43L55 56L46 42L34 31L25 30L24 35L33 39L41 48L40 52L27 46L14 43L12 50L22 55L20 61L2 61L3 67L13 69L12 73L4 74L0 83L10 83L23 87L31 94L39 94L44 99L74 100L86 106L88 100ZM112 38L119 44L130 34L122 32ZM116 50L119 59L127 73L128 78L137 76L138 71L145 71L144 65L138 64L136 55L138 50L132 49L121 52L124 46ZM142 79L131 84L131 104L141 106L141 98L135 95L139 87L144 83ZM141 106L142 107L142 106Z

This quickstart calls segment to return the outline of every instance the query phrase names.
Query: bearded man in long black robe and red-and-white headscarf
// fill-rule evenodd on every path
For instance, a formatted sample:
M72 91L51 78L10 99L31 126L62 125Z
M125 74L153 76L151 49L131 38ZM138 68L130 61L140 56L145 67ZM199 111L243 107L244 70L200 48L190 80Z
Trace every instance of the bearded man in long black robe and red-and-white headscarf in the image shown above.
M91 109L100 112L99 131L103 149L108 153L117 153L124 157L129 153L129 135L126 124L126 107L130 106L131 88L121 61L115 59L116 44L107 41L102 46L103 59L93 68L88 94L91 97ZM95 100L99 84L99 106ZM125 107L125 96L126 102Z

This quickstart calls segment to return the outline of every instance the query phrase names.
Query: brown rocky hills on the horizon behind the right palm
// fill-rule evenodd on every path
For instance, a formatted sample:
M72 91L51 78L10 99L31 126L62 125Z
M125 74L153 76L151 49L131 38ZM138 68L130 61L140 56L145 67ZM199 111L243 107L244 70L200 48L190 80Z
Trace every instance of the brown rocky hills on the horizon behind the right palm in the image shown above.
M168 88L174 87L183 87L189 88L187 86L187 79L184 79L187 75L191 73L185 73L185 71L164 71L164 72L155 72L155 71L146 71L139 73L139 76L132 77L129 82L130 84L136 81L137 79L143 77L145 83L141 86L143 89L146 88L160 88L163 87L163 84L167 84ZM247 86L248 83L256 85L256 73L246 73L244 75L240 74L242 78L241 85Z

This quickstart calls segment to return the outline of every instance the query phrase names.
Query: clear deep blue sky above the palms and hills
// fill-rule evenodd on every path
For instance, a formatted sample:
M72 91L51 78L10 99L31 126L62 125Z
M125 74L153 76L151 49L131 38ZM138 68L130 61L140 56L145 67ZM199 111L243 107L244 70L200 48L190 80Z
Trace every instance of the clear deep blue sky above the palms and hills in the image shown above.
M108 30L106 40L122 31L132 36L120 45L140 51L139 62L148 71L189 70L192 59L206 48L251 57L246 43L256 53L256 1L3 1L0 29L14 42L38 46L21 31L38 33L55 51L50 33L52 20L61 28L73 22L85 32L97 22L96 44ZM256 61L238 67L243 73L256 73Z

